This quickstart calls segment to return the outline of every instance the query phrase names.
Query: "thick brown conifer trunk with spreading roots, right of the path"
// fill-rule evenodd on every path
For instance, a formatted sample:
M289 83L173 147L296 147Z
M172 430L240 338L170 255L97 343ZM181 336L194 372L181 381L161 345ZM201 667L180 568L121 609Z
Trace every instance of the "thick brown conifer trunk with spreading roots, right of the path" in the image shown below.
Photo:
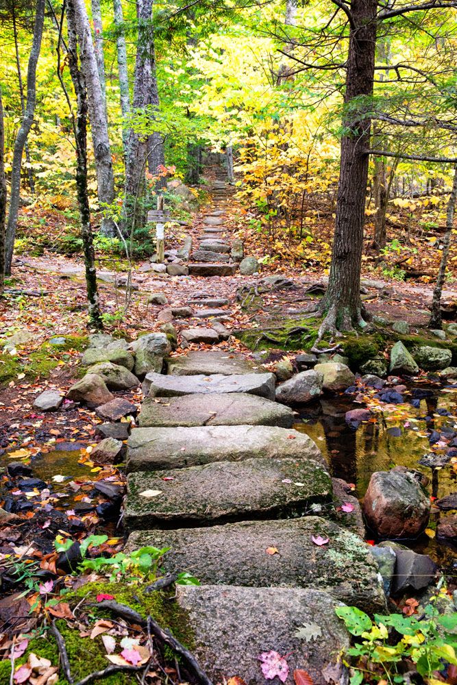
M353 0L351 3L354 26L349 34L343 119L348 132L341 138L332 264L327 292L321 302L321 312L326 316L319 337L336 329L350 330L354 324L365 325L360 301L360 271L369 162L365 150L369 149L371 129L367 100L373 95L377 6L377 0Z

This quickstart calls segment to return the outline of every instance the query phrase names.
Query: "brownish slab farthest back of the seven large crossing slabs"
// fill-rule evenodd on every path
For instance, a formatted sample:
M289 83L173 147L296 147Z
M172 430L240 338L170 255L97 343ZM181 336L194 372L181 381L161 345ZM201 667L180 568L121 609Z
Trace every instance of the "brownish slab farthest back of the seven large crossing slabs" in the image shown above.
M222 373L230 376L237 373L264 373L258 362L220 351L195 350L186 356L170 357L166 361L166 373L175 376Z

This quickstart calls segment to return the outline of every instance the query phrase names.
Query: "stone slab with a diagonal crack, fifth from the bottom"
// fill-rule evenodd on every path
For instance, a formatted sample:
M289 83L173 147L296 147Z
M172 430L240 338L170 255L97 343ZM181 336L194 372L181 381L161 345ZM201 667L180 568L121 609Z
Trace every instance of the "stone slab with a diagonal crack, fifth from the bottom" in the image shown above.
M217 425L290 428L294 422L295 414L290 408L264 397L244 393L147 397L141 406L138 421L141 427L170 428Z

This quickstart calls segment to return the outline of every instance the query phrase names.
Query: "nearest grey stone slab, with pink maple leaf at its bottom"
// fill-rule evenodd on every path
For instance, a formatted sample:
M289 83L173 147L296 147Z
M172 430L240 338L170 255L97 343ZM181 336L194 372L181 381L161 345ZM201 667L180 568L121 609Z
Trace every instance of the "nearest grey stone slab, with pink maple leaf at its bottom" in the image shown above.
M286 655L287 683L294 669L304 669L322 685L322 669L349 646L335 602L321 590L179 586L177 603L188 617L193 653L214 683L238 676L249 685L279 684L265 680L258 658L273 650ZM320 628L312 642L296 635L304 624Z

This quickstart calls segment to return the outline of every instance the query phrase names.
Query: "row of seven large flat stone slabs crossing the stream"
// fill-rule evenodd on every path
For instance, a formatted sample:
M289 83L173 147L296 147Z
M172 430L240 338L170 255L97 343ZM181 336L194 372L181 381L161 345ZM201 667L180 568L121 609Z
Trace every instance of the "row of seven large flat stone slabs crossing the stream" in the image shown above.
M382 611L385 599L358 512L338 512L336 482L275 401L275 376L190 351L148 373L143 393L127 443L127 550L171 547L164 571L201 581L177 586L175 603L213 682L264 685L273 651L324 684L348 644L336 603Z

